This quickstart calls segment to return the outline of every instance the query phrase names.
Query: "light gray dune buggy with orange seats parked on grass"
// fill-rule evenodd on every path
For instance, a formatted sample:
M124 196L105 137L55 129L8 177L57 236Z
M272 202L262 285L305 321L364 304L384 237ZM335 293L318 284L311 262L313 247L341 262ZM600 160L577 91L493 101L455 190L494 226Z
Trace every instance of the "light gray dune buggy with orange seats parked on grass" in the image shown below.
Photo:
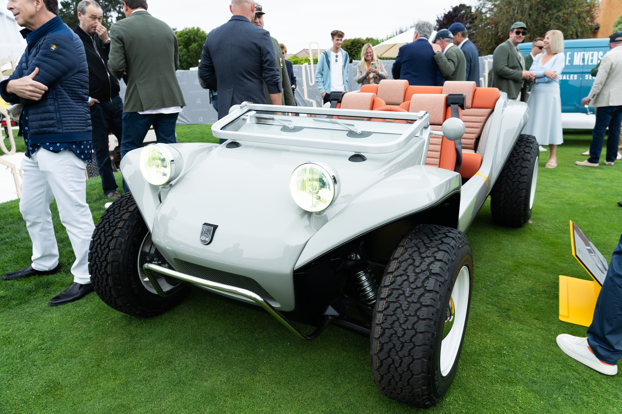
M333 108L234 106L212 126L221 145L129 152L131 193L101 216L91 280L129 315L159 315L195 285L257 305L299 338L329 324L361 334L378 390L432 407L465 336L464 231L488 195L497 223L531 216L527 106L469 82L415 91L402 108L375 93L331 97Z

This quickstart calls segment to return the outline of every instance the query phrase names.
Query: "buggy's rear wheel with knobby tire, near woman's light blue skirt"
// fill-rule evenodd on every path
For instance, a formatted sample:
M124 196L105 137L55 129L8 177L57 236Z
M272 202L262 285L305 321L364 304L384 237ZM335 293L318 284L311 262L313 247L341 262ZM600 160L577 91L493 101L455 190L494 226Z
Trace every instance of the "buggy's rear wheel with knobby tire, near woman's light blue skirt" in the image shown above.
M521 134L490 192L496 224L522 227L531 217L536 195L539 150L536 137Z

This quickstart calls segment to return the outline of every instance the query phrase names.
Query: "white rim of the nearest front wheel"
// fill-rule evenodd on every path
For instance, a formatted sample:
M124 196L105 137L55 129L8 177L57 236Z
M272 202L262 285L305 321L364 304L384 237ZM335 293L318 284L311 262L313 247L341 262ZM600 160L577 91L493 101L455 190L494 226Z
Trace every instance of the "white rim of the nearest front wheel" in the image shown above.
M458 356L462 333L466 323L466 308L468 307L468 294L470 289L468 267L463 266L458 273L456 283L453 285L450 306L453 301L453 319L451 330L443 338L440 344L440 373L443 377L452 370L453 363Z

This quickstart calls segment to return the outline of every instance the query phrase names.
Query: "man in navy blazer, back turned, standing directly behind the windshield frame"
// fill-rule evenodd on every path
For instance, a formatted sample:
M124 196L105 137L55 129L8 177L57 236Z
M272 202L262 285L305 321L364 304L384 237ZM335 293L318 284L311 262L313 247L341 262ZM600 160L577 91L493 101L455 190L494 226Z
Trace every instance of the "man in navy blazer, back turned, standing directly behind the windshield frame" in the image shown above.
M281 77L270 33L251 23L255 3L233 0L230 21L211 30L203 45L198 76L207 88L218 91L218 119L244 101L266 103L266 82L271 104L281 104Z

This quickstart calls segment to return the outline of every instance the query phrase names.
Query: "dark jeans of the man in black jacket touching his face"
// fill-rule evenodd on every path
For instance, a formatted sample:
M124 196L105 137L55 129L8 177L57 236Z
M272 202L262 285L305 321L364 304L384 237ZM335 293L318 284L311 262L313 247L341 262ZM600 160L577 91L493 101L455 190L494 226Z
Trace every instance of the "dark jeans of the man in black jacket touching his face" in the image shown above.
M118 187L114 180L113 164L108 148L108 131L112 131L121 144L123 131L123 101L117 95L110 101L94 103L91 106L91 125L93 126L93 149L97 167L100 170L101 188L108 195Z

